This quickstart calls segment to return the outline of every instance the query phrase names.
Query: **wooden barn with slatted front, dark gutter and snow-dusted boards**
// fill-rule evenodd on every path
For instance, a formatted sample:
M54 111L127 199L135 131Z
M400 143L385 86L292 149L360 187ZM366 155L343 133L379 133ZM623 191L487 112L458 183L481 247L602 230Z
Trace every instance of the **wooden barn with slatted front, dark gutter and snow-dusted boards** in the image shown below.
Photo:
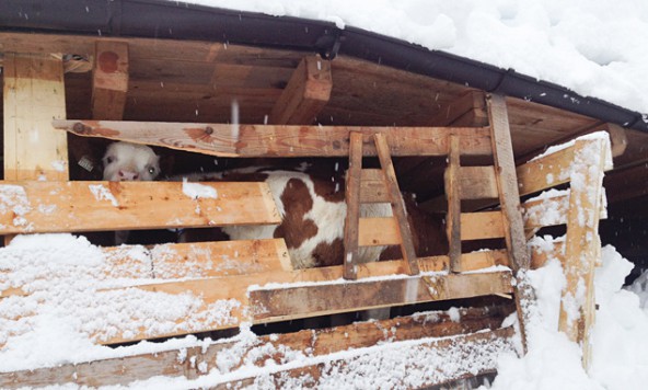
M637 226L648 217L648 123L513 70L332 23L157 0L3 1L0 66L4 244L16 234L88 237L102 264L83 277L100 287L73 305L97 319L132 318L79 325L93 344L120 346L112 355L25 369L0 363L1 388L155 376L223 389L316 387L375 367L398 371L394 388L476 385L495 374L498 355L525 352L526 271L552 257L565 268L564 295L586 291L581 316L565 309L559 326L587 366L601 242L637 262L646 253ZM114 140L153 147L162 179L103 181ZM192 195L171 179L259 164L306 164L331 177L346 206L338 264L296 266L282 234L162 238L279 225L286 207L264 181L225 175L194 183L207 195ZM443 220L439 253L417 254L403 194ZM391 216L364 217L364 204ZM157 243L102 241L152 229ZM564 238L528 245L546 232ZM358 260L362 248L385 245L395 260ZM79 294L47 283L59 280L56 269L21 278L21 265L2 264L0 305L25 309L0 311L0 351L32 332L37 310L21 300L72 305L61 294ZM148 306L113 305L123 297L187 311L157 323ZM384 308L389 318L329 321ZM511 313L517 328L505 321ZM188 334L190 347L169 342ZM144 340L165 342L134 346ZM200 383L213 370L222 381Z

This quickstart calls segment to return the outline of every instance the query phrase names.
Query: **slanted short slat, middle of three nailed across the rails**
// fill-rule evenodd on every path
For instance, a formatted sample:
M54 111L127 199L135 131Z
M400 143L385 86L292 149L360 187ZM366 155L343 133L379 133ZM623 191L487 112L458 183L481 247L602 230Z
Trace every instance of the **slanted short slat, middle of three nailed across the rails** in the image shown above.
M407 210L405 209L403 194L401 193L401 188L398 188L398 181L396 180L396 172L394 171L394 164L392 162L392 157L390 156L386 137L383 134L375 134L374 140L380 164L385 174L385 185L391 198L392 211L398 222L396 225L398 227L398 242L401 245L401 252L403 253L403 260L405 260L405 263L407 264L407 274L416 275L418 274L418 264L416 262L416 251L414 250L412 229L409 227L409 220L407 219Z

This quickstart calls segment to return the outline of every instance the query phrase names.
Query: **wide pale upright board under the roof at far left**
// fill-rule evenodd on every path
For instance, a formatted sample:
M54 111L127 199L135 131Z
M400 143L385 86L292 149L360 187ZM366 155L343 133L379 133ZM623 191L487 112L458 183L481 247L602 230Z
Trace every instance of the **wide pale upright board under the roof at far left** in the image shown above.
M51 119L66 117L63 67L47 55L4 54L5 180L68 180L67 137Z

